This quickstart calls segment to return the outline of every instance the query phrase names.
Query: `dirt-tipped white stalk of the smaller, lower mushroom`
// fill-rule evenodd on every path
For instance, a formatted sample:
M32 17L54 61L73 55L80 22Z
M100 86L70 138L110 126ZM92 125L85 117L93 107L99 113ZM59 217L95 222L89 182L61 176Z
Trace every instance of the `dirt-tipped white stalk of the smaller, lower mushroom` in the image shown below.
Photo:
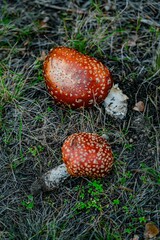
M36 195L41 191L52 191L55 188L58 188L59 185L69 176L70 175L67 172L66 165L63 163L58 167L46 172L44 175L42 175L42 177L38 178L31 185L31 192L32 194Z

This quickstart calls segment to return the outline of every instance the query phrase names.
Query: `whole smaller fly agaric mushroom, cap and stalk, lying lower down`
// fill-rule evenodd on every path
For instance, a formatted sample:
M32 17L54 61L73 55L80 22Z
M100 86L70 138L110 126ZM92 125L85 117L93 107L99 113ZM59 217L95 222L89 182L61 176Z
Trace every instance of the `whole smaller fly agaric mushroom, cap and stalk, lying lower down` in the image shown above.
M113 155L107 141L94 133L70 135L62 146L63 164L45 173L31 186L33 194L57 188L67 177L101 178L113 165Z

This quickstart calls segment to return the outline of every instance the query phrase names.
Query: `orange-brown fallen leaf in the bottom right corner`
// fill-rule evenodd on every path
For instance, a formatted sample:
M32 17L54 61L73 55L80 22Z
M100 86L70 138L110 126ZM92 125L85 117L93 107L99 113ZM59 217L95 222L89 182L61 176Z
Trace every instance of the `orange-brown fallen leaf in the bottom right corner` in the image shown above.
M156 237L158 234L159 234L159 229L154 223L152 222L146 223L145 231L144 231L145 240L152 239Z

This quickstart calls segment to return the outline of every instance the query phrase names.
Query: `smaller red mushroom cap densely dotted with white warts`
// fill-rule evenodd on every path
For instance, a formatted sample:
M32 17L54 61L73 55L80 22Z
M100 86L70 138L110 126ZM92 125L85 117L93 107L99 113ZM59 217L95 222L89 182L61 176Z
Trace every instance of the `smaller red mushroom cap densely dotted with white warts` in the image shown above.
M104 177L112 168L107 141L94 133L75 133L62 146L62 158L71 176Z

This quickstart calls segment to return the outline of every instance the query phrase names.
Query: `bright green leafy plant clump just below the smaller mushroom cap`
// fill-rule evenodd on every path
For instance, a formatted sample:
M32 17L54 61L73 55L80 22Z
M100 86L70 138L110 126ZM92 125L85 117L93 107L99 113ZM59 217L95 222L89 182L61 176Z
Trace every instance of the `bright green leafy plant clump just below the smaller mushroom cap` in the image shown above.
M77 186L75 190L79 192L79 200L74 206L77 212L85 210L90 212L95 209L102 210L101 195L104 192L103 185L99 180L93 180L87 186Z

